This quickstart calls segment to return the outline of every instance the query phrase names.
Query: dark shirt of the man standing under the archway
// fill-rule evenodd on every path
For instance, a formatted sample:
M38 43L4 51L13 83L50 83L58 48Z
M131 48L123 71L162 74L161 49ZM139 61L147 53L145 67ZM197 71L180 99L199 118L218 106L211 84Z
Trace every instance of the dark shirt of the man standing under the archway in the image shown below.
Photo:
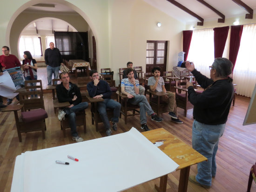
M45 64L51 67L60 66L62 63L61 52L58 48L48 48L44 53Z

